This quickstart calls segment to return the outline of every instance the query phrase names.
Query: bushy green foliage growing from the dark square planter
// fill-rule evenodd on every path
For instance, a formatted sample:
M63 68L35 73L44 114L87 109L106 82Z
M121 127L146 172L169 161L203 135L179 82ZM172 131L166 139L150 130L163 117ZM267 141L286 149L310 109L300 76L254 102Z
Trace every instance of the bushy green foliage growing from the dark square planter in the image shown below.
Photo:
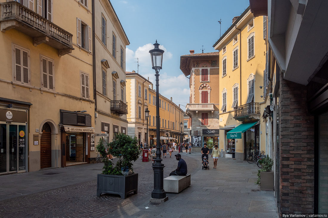
M128 167L133 172L132 161L136 161L140 154L138 139L135 136L131 137L123 133L117 134L116 140L107 144L108 153L118 158L116 164L113 164L113 161L107 158L106 148L102 139L99 139L96 149L104 157L104 170L102 173L111 175L122 175L122 167Z

